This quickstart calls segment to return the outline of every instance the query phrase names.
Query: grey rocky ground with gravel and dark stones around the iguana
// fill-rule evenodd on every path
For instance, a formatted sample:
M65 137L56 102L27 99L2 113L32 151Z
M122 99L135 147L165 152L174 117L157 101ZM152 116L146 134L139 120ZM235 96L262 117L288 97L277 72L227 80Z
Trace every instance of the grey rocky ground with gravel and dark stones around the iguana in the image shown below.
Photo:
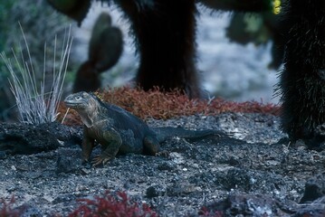
M159 216L198 216L203 206L223 216L325 216L325 150L290 146L278 117L226 113L148 125L222 133L171 137L161 144L168 156L118 156L88 168L81 127L2 123L0 195L6 202L14 195L14 207L27 204L24 216L66 216L78 198L107 190L126 192Z

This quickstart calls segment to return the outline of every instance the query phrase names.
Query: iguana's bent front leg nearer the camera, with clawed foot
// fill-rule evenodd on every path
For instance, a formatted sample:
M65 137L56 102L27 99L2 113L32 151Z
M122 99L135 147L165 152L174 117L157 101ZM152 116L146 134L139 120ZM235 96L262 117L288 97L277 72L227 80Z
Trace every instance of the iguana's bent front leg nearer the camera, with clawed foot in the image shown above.
M114 130L106 130L102 133L101 144L101 154L100 156L95 156L91 161L91 164L96 166L100 164L105 164L111 159L113 159L119 152L119 147L122 145L122 138L119 133Z

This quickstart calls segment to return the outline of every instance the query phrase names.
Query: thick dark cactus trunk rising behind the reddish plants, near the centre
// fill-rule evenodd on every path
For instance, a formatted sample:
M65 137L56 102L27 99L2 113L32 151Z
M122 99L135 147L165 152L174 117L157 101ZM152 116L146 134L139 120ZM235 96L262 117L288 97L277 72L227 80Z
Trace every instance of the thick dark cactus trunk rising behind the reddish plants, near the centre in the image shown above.
M137 82L144 90L158 86L199 96L196 75L195 0L117 2L129 18L140 56ZM142 1L144 2L144 1Z

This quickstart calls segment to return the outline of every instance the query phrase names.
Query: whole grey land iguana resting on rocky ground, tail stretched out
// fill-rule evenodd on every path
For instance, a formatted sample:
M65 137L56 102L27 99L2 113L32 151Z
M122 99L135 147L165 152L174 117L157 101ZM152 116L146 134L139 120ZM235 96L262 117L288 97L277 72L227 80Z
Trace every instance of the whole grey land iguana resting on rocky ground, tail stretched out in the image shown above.
M181 127L150 128L125 109L100 100L94 93L78 92L64 99L68 108L75 109L84 124L81 144L82 163L89 163L95 140L102 152L92 165L105 164L118 154L155 156L159 143L167 137L199 138L216 134L214 130L186 130Z

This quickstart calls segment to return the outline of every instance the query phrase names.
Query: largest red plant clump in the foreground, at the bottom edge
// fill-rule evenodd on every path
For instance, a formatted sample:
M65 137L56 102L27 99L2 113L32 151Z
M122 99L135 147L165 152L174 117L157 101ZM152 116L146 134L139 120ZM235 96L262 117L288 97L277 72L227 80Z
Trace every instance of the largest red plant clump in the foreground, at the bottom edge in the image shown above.
M106 192L102 197L96 196L94 200L79 201L84 204L70 213L69 217L158 217L157 212L153 212L146 203L139 205L131 201L124 192L117 193L117 196Z

